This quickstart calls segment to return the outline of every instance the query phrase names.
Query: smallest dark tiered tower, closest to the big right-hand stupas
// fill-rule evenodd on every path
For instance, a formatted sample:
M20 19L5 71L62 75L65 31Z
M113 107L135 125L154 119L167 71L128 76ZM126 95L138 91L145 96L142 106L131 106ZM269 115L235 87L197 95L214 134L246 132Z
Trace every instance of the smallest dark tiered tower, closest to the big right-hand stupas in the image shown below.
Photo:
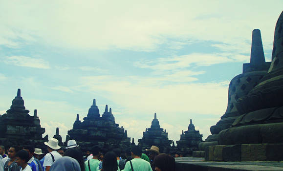
M199 130L195 129L195 126L190 120L190 125L185 133L182 131L181 137L177 143L177 149L191 148L198 149L198 144L202 141L202 134L199 134Z

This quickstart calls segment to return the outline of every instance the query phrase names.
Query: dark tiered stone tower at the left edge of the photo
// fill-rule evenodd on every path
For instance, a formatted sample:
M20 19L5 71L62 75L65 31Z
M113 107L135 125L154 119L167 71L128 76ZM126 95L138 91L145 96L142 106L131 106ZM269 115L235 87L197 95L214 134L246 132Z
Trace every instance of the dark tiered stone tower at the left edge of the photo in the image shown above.
M45 129L41 128L36 109L34 110L33 116L28 114L29 110L25 109L21 97L21 89L18 89L17 96L12 101L12 106L6 112L7 113L0 115L1 145L32 144L36 147L43 145L44 138L42 134L45 132Z

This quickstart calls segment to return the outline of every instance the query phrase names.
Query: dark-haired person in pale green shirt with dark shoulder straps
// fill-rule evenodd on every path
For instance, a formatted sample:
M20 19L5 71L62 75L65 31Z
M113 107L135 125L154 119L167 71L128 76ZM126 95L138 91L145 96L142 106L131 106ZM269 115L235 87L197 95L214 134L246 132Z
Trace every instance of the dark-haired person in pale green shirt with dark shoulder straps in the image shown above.
M152 171L151 164L140 158L141 154L141 148L139 146L133 146L131 148L133 159L126 163L124 171Z

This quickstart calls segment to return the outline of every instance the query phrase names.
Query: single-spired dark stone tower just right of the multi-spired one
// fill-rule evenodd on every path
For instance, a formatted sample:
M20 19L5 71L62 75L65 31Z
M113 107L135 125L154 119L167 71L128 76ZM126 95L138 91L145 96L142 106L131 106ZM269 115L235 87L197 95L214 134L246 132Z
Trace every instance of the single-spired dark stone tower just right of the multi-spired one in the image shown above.
M172 140L168 139L166 130L163 131L163 128L160 128L156 113L154 113L151 128L146 128L146 131L143 132L142 139L138 140L138 145L141 146L143 150L157 146L159 151L163 152L163 150L171 148L172 142Z

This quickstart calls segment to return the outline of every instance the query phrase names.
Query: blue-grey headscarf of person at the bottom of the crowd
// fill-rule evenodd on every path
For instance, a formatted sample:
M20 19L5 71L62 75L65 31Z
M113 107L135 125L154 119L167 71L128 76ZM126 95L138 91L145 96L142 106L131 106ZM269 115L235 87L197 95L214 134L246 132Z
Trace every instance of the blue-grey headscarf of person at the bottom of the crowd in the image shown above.
M53 163L50 171L81 171L81 168L76 159L64 156Z

